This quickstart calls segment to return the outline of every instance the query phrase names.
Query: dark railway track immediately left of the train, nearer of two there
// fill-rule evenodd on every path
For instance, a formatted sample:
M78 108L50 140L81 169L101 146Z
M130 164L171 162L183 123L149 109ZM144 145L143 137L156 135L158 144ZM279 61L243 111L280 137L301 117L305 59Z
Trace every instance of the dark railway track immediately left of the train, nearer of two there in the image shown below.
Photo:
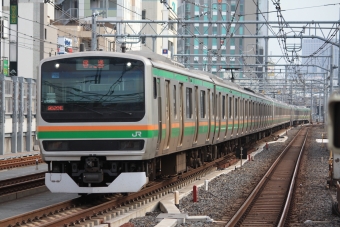
M0 195L32 189L45 185L45 173L36 173L0 181Z

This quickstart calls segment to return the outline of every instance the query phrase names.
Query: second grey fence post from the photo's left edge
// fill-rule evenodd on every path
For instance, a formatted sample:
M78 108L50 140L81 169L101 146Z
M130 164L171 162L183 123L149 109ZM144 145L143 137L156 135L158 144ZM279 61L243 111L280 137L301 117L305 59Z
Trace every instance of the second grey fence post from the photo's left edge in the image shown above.
M18 77L12 76L13 80L13 113L12 113L12 138L11 138L11 151L17 153L18 140Z

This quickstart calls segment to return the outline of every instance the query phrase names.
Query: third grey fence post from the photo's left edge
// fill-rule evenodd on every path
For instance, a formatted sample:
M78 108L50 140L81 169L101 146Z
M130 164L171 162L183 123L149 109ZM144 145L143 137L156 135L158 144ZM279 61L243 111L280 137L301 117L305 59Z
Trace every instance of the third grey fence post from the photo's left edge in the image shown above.
M24 78L18 77L18 152L24 150L23 140L24 140Z

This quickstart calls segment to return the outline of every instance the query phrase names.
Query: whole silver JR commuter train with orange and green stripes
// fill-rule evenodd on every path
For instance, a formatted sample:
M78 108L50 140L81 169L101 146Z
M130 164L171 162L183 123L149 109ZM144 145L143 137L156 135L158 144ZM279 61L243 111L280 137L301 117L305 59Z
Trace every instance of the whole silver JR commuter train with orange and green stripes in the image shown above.
M80 52L44 59L37 138L52 192L136 192L310 110L189 70L151 52Z

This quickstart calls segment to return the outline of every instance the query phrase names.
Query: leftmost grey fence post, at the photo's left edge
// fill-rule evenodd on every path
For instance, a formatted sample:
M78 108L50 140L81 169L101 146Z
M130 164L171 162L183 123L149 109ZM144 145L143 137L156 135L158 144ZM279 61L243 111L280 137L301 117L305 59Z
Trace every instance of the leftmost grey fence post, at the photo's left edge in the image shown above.
M0 74L0 92L1 92L1 102L0 102L0 155L5 154L5 123L6 123L6 99L5 99L5 76Z

